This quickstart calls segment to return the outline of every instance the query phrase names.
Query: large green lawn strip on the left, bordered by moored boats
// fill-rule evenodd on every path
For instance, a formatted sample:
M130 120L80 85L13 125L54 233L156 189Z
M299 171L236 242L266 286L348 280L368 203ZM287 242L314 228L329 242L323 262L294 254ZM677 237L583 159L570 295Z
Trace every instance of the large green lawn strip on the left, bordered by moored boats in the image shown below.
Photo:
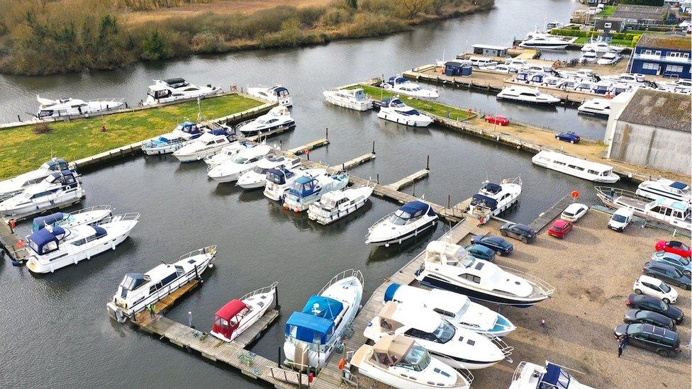
M231 94L201 101L202 117L221 118L263 103ZM115 113L99 118L77 119L69 123L50 123L52 131L37 135L33 125L0 130L0 179L33 170L50 159L61 157L72 162L172 130L185 120L195 120L197 102ZM106 125L106 132L101 132Z

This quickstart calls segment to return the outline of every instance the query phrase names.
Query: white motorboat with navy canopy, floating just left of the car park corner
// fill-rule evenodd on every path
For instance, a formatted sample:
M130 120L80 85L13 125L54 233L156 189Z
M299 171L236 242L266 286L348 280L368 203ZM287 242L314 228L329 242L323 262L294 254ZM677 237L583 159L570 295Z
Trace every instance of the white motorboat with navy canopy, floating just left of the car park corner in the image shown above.
M384 247L389 247L392 243L401 244L406 239L417 237L435 227L438 219L430 204L410 201L368 228L365 244Z

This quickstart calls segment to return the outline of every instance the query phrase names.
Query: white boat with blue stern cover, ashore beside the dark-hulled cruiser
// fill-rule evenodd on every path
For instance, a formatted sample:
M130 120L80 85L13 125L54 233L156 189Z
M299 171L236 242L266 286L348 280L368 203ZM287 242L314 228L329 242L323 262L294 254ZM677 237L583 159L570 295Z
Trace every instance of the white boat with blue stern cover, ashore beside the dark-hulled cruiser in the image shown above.
M384 302L388 301L435 311L448 322L491 337L504 337L516 329L498 312L474 303L465 295L442 289L428 291L392 283L384 292Z

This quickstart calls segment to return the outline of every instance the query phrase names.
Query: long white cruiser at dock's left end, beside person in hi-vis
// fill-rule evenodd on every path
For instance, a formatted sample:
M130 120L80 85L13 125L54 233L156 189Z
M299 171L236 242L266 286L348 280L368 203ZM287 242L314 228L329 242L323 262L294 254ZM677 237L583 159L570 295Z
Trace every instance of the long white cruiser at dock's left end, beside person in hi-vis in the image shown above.
M147 305L158 303L167 295L185 286L213 265L216 246L207 246L180 256L173 264L162 263L144 274L125 274L118 291L106 304L108 316L118 322L133 319ZM163 262L163 261L162 261Z

